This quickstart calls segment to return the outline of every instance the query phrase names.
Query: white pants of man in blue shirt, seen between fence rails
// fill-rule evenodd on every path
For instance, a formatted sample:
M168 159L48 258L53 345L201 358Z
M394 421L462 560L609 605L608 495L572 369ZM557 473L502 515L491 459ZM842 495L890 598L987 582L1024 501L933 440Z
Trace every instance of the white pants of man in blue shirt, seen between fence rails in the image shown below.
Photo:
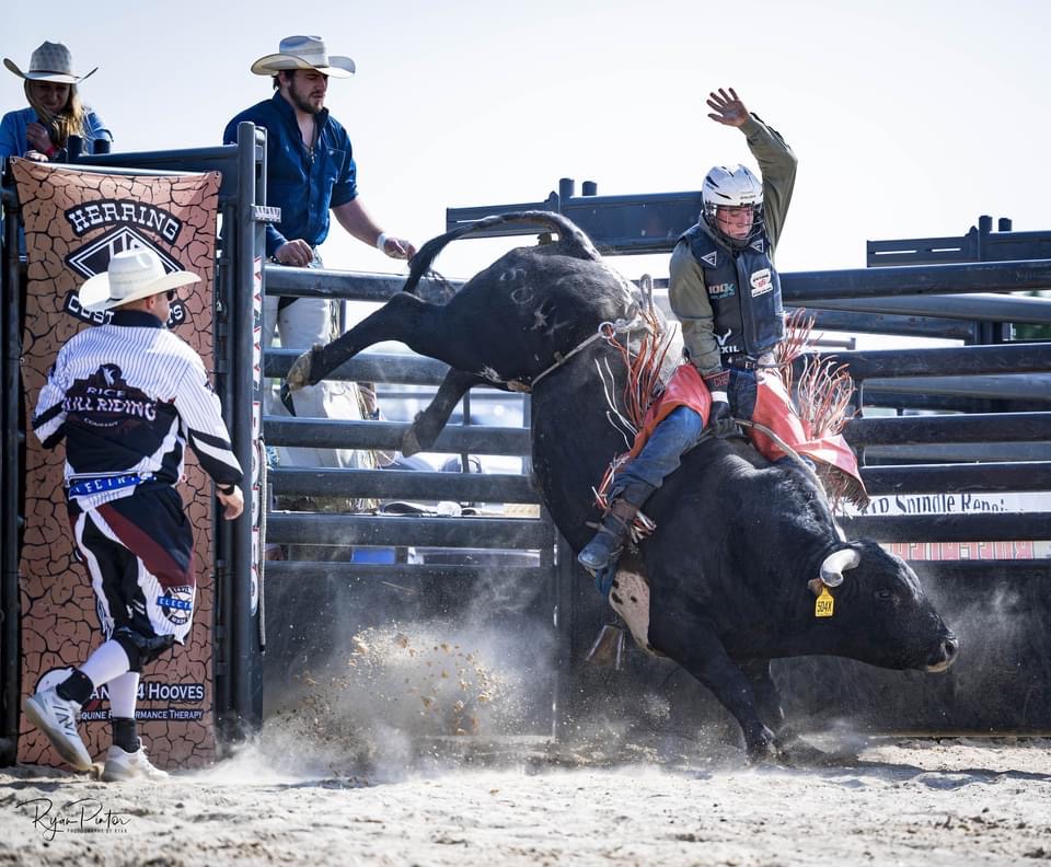
M278 311L279 298L268 297L263 301L263 350L274 342L277 326L281 347L305 351L314 344L326 344L334 337L332 302L323 298L298 298ZM319 382L297 391L292 405L299 418L338 418L360 420L363 418L358 401L358 386L354 382ZM266 412L269 415L288 416L284 404L274 390L266 390ZM372 453L353 449L313 449L280 447L278 456L282 466L353 466L371 469L376 465Z

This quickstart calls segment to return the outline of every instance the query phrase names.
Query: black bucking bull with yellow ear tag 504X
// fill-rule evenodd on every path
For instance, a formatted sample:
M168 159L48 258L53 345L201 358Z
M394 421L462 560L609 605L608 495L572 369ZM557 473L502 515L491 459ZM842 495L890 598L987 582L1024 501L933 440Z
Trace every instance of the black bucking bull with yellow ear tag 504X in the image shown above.
M448 303L416 296L449 241L496 222L538 223L557 232L558 241L507 253ZM334 343L302 356L289 383L317 382L381 340L401 340L444 361L451 371L403 442L413 453L434 443L471 386L518 390L536 380L536 483L558 529L579 551L591 535L589 522L600 517L591 488L625 450L609 420L597 362L612 371L617 395L625 371L605 340L570 352L600 323L631 321L638 301L565 218L490 217L428 242L404 291ZM557 360L564 362L541 375ZM940 671L956 655L955 636L912 569L873 542L847 542L811 478L770 464L743 440L704 440L645 510L656 530L637 555L622 558L613 597L625 592L631 573L648 578L650 646L737 718L751 759L777 754L788 737L771 659L819 654ZM816 616L822 588L833 597L832 616Z

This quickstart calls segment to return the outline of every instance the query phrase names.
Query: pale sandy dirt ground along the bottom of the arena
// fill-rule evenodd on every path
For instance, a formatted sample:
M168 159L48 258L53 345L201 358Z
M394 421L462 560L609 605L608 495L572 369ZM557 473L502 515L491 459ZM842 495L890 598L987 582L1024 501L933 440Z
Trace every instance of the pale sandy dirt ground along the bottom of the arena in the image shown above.
M1051 862L1046 739L875 740L854 762L806 768L746 768L737 753L555 761L526 744L481 764L436 759L385 779L290 773L288 753L257 744L162 786L5 768L0 863Z

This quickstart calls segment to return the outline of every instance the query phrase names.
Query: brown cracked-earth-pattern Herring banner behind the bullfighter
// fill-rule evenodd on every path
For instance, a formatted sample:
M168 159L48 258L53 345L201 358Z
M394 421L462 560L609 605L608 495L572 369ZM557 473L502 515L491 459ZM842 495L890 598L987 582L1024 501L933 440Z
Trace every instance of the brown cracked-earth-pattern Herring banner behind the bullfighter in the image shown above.
M25 417L59 348L79 330L108 313L86 313L77 301L81 284L108 267L124 250L148 247L166 270L186 269L201 282L173 304L169 327L211 366L212 281L220 176L118 175L12 160L25 228L28 287L22 335ZM20 578L22 694L43 678L61 680L102 640L94 594L79 563L62 489L65 449L45 450L31 435L25 444L25 533ZM184 648L147 666L136 716L159 767L195 767L215 755L211 621L215 580L211 551L211 484L192 450L180 493L194 528L197 599ZM172 609L171 616L185 615ZM106 687L84 706L81 731L92 755L108 747ZM46 737L24 719L19 761L60 765ZM102 737L102 740L100 739Z

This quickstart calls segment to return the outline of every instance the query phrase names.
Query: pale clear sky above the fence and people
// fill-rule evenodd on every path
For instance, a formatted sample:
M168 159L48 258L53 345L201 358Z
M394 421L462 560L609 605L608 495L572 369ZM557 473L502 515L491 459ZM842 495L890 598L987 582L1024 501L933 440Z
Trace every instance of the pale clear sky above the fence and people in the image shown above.
M23 69L65 42L115 150L218 143L268 97L250 73L282 36L319 34L358 74L328 106L347 127L362 201L417 244L449 206L539 201L569 176L600 194L697 189L748 161L709 120L732 85L799 157L782 270L863 267L866 239L959 235L980 213L1051 229L1051 3L1042 0L494 0L180 3L58 0L4 15ZM0 68L0 108L22 107ZM470 276L506 247L464 241L439 261ZM331 267L399 270L335 227ZM667 257L620 261L666 276Z

